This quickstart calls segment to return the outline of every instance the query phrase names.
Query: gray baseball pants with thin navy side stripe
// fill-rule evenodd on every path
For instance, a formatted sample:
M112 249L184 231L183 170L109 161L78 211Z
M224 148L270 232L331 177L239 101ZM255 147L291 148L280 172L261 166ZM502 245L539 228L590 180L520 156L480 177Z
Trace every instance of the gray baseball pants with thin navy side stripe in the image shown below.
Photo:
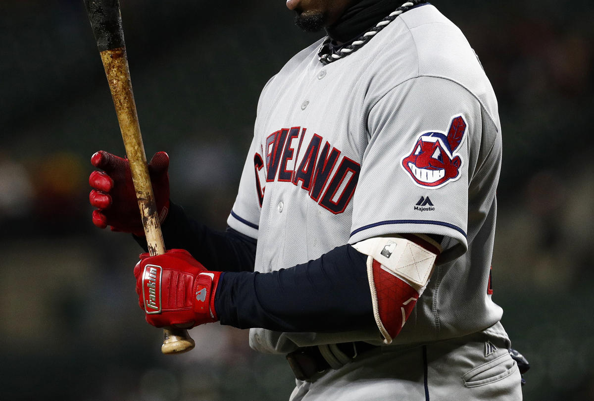
M426 345L385 346L337 370L296 380L290 401L522 400L507 343L483 333Z

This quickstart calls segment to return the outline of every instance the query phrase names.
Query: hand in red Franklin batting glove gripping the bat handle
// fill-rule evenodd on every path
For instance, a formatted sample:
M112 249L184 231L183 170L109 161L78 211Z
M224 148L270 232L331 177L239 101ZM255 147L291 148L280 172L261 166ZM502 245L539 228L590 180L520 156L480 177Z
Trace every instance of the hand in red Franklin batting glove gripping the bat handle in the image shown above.
M208 271L188 251L140 255L134 267L136 293L146 320L156 327L183 329L219 320L214 294L220 271Z

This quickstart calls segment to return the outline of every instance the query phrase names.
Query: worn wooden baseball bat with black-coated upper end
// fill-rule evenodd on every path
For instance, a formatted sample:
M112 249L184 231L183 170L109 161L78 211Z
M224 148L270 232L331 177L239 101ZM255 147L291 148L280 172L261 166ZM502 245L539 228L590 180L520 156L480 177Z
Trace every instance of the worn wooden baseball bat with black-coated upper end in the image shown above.
M159 225L159 216L155 206L143 138L132 93L119 0L84 0L84 4L97 41L97 49L99 49L103 61L105 75L108 78L113 105L118 115L149 254L151 256L164 254L165 243ZM194 340L189 336L187 330L176 327L163 329L163 345L161 347L163 353L181 353L192 348L194 348Z

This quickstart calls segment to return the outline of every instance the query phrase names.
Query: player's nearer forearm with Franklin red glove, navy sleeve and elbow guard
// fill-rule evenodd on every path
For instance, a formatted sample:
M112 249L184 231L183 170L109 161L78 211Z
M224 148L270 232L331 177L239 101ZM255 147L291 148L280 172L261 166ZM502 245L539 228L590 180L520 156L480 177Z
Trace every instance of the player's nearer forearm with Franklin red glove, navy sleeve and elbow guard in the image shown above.
M241 329L287 332L379 330L389 344L424 292L440 252L428 236L394 234L343 245L269 273L209 271L179 249L141 255L134 271L141 305L157 311L167 306L167 313L149 321L157 327L220 320ZM162 277L159 295L155 277ZM145 298L151 289L152 298ZM162 304L162 299L175 302Z

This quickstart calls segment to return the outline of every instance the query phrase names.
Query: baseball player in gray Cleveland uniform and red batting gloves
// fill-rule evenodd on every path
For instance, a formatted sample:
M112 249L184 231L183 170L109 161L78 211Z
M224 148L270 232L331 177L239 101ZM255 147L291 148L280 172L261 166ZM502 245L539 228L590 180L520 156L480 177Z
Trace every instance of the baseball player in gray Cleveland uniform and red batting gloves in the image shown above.
M228 229L171 203L151 160L170 251L134 269L146 320L249 328L286 355L291 400L522 399L491 299L501 127L475 53L426 2L287 7L328 35L264 87ZM142 243L127 161L92 163L93 222Z

